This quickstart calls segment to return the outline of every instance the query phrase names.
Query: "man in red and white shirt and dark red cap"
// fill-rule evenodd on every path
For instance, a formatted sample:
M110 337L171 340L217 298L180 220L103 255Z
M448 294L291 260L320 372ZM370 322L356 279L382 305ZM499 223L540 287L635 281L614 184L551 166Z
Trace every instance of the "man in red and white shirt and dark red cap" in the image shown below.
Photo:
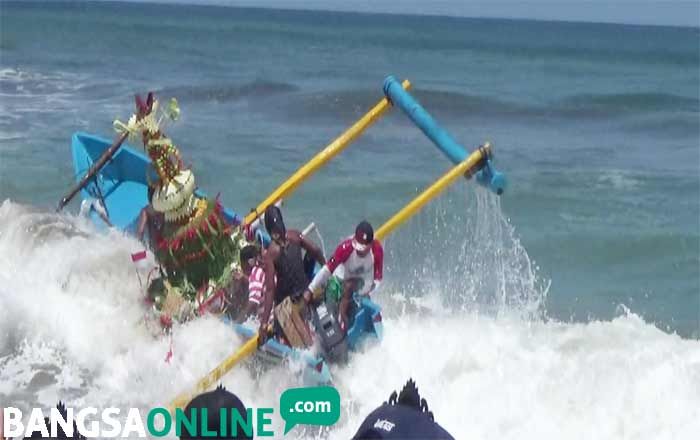
M338 245L333 256L318 271L309 284L304 298L307 301L323 291L331 275L343 281L343 295L338 308L338 320L343 330L348 322L348 307L353 292L369 295L377 290L382 281L384 250L379 240L374 239L374 229L366 220L355 228L355 235Z

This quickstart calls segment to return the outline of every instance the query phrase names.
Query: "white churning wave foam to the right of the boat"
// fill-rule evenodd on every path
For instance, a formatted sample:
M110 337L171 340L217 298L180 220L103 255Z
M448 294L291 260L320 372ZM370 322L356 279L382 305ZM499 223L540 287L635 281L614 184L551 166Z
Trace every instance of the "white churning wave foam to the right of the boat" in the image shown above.
M406 315L381 346L334 371L349 438L412 377L435 420L465 439L693 439L700 430L700 346L634 314L565 324Z

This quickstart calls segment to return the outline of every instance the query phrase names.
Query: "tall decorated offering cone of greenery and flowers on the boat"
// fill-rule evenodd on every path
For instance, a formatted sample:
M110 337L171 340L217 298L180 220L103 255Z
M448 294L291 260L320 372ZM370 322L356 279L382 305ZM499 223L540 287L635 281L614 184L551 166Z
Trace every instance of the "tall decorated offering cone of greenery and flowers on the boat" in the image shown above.
M161 128L179 114L175 99L161 110L149 93L145 101L136 97L136 113L128 123L115 121L114 125L130 137L140 135L157 176L155 181L149 179L154 189L151 203L165 223L154 252L167 282L161 289L149 288L149 295L161 313L185 320L204 312L193 307L195 300L201 305L231 287L242 234L226 222L218 200L194 194L194 173L183 165L179 149Z

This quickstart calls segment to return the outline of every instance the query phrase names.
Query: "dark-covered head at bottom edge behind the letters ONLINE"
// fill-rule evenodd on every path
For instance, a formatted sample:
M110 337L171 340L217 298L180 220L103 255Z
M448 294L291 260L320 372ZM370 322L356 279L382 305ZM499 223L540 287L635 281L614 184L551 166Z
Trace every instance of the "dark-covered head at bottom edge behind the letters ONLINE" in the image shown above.
M214 391L208 393L200 394L199 396L192 399L192 401L185 408L185 415L189 416L190 411L196 409L197 414L201 414L203 408L207 409L207 427L210 431L215 432L215 437L201 437L192 436L189 431L185 428L182 430L180 439L252 439L252 436L247 436L244 433L244 429L241 426L232 425L231 411L238 411L244 423L250 423L248 420L248 414L246 412L245 405L241 402L241 399L236 397L235 394L229 392L223 386L219 385ZM220 409L226 409L226 420L221 420ZM226 435L221 435L219 429L221 429L221 424L226 426ZM198 426L198 428L201 425ZM233 435L233 431L236 431L236 435Z

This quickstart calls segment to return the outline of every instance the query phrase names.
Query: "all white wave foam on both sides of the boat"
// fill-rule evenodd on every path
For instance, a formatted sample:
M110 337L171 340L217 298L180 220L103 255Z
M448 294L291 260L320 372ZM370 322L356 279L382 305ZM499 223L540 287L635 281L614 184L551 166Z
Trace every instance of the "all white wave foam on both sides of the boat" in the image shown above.
M175 329L166 363L168 338L154 339L141 324L129 258L138 249L133 239L95 233L80 219L10 201L0 206L3 402L150 408L240 345L227 326L200 319ZM507 276L488 279L513 286L517 270L509 268L523 266L501 267ZM440 292L444 283L433 285L422 298L388 286L378 297L386 308L383 343L333 367L339 424L323 433L297 428L292 438L349 438L409 377L459 439L694 439L700 432L700 342L630 312L572 324L455 308ZM237 368L223 383L257 407L277 407L284 389L300 385L286 367L256 376ZM277 416L275 430L281 438Z

